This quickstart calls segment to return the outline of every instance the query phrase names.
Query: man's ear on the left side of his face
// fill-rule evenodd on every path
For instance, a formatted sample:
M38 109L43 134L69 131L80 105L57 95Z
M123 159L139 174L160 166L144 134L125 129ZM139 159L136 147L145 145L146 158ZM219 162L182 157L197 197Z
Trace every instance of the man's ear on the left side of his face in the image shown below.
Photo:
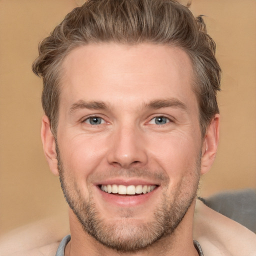
M50 129L49 118L46 115L43 115L42 117L41 140L42 140L44 155L49 165L49 168L54 175L58 176L58 166L57 166L58 162L57 162L55 139Z

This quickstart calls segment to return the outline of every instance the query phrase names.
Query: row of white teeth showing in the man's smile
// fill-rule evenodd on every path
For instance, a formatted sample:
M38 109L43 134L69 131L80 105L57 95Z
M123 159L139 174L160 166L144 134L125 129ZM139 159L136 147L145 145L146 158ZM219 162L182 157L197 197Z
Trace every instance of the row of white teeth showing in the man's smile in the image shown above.
M156 185L101 185L100 189L102 191L105 191L107 193L113 193L113 194L145 194L145 193L149 193L151 191L154 190L154 188L156 187Z

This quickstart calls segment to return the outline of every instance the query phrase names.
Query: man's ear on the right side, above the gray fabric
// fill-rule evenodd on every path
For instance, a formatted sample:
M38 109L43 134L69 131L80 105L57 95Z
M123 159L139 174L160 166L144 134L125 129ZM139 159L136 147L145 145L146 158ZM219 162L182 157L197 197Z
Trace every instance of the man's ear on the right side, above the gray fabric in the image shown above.
M215 159L219 140L219 114L212 118L202 143L201 175L209 171Z

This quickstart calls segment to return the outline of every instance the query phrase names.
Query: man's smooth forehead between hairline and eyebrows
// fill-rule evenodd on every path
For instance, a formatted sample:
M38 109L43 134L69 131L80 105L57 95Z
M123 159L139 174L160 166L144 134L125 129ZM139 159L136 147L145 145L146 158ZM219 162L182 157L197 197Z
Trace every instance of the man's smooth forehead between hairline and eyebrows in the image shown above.
M174 46L88 44L65 57L61 73L60 105L80 99L112 104L164 97L196 100L190 58Z

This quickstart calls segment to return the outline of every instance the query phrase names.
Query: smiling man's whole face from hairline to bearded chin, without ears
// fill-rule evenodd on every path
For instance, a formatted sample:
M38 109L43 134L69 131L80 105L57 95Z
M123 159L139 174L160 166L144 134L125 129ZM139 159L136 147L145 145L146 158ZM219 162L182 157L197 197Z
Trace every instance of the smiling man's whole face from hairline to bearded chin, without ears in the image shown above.
M170 234L193 201L202 139L187 54L89 44L62 64L57 127L65 196L84 230L122 251Z

